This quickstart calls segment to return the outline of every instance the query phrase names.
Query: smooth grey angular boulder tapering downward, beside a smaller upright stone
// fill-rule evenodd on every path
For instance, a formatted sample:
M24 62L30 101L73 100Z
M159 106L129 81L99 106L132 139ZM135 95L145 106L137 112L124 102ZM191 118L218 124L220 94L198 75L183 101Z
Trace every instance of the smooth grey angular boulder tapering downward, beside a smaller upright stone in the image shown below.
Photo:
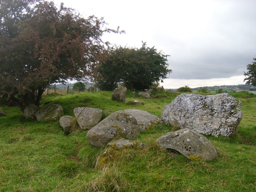
M96 108L77 107L74 109L74 115L81 130L85 131L101 121L103 111Z

